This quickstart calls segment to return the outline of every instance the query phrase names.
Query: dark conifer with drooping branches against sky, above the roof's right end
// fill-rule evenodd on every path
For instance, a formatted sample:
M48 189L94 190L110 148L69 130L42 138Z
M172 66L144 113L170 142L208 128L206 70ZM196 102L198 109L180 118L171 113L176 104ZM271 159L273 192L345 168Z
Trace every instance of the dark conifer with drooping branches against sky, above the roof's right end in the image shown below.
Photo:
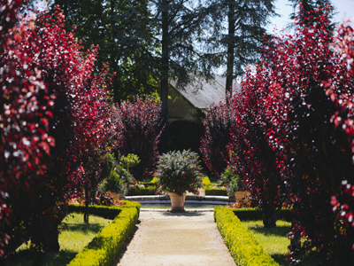
M207 51L219 57L219 66L227 62L227 86L244 73L247 64L259 58L260 45L266 34L269 18L277 15L274 0L209 0L212 27L201 38Z

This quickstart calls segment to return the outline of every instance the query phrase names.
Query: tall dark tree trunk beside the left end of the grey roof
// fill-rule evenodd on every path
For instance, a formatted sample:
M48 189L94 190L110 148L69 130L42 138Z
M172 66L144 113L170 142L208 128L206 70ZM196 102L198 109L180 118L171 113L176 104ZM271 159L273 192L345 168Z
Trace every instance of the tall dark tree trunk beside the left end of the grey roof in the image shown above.
M168 1L163 2L162 8L162 62L161 62L161 102L162 117L166 127L168 126L168 74L169 74L169 38L168 38ZM161 136L161 152L167 151L168 129L166 128Z

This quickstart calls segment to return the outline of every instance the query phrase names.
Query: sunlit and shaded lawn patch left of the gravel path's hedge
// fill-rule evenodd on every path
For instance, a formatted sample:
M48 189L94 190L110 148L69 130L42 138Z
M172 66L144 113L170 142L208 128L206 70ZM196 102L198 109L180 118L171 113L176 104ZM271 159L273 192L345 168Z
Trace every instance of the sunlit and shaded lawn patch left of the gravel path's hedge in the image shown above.
M89 215L89 223L83 223L82 214L70 214L65 217L60 228L59 252L50 252L46 255L34 254L28 248L29 245L22 245L17 254L6 260L7 266L31 266L42 265L56 266L66 265L73 260L89 242L101 231L105 225L112 220Z

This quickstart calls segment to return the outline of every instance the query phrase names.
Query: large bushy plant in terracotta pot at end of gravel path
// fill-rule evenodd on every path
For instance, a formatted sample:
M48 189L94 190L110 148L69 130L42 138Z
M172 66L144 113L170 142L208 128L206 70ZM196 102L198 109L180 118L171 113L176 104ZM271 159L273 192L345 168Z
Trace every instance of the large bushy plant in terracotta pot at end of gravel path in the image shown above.
M168 192L173 211L183 211L187 192L199 194L203 187L198 155L188 151L173 151L159 157L158 191Z

